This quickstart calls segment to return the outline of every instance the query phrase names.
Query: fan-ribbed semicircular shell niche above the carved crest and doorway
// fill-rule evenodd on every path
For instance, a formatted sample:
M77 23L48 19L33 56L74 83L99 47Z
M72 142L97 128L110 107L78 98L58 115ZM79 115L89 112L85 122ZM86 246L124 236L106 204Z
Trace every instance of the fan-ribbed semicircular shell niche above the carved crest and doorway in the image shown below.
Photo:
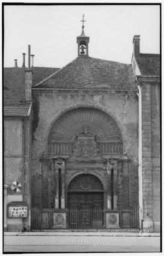
M115 120L102 110L79 107L62 114L49 130L48 155L73 153L77 135L87 130L95 137L100 154L123 154L123 137Z

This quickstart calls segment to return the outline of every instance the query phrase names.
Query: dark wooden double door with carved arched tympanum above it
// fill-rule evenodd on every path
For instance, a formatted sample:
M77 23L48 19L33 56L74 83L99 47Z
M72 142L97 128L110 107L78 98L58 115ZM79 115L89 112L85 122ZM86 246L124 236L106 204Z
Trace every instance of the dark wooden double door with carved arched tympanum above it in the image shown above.
M68 185L68 225L80 228L102 228L103 184L97 176L82 173Z

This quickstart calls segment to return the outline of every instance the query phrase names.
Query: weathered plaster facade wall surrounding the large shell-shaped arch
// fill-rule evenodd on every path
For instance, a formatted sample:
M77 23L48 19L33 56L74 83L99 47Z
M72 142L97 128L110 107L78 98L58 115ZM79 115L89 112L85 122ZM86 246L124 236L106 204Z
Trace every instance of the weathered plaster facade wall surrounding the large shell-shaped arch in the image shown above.
M129 171L129 205L138 207L138 96L136 92L106 93L106 92L34 92L32 108L32 205L42 207L42 190L47 177L54 193L54 173L44 173L40 158L46 152L46 135L55 121L64 111L77 107L95 107L108 113L117 122L124 140L124 152L132 161ZM121 168L121 167L120 167ZM50 173L50 174L49 174ZM118 187L121 191L121 170L118 174ZM34 189L33 189L34 188ZM54 194L46 192L47 195ZM121 198L121 192L120 198ZM46 200L46 199L44 199ZM53 206L48 199L49 207ZM121 206L121 199L120 199Z

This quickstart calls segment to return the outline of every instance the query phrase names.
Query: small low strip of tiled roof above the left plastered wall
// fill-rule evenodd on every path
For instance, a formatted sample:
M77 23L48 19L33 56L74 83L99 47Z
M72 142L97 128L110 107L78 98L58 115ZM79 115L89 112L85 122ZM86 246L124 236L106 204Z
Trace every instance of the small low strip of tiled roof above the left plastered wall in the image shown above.
M25 105L5 105L4 116L28 116L30 103Z

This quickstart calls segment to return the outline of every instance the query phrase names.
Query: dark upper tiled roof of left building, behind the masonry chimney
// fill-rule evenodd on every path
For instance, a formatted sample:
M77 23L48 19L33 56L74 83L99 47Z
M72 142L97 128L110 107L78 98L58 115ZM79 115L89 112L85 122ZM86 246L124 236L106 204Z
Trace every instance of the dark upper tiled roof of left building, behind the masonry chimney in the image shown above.
M21 67L4 68L4 105L22 105L25 101L25 70ZM52 67L33 67L33 81L36 85L58 69Z

